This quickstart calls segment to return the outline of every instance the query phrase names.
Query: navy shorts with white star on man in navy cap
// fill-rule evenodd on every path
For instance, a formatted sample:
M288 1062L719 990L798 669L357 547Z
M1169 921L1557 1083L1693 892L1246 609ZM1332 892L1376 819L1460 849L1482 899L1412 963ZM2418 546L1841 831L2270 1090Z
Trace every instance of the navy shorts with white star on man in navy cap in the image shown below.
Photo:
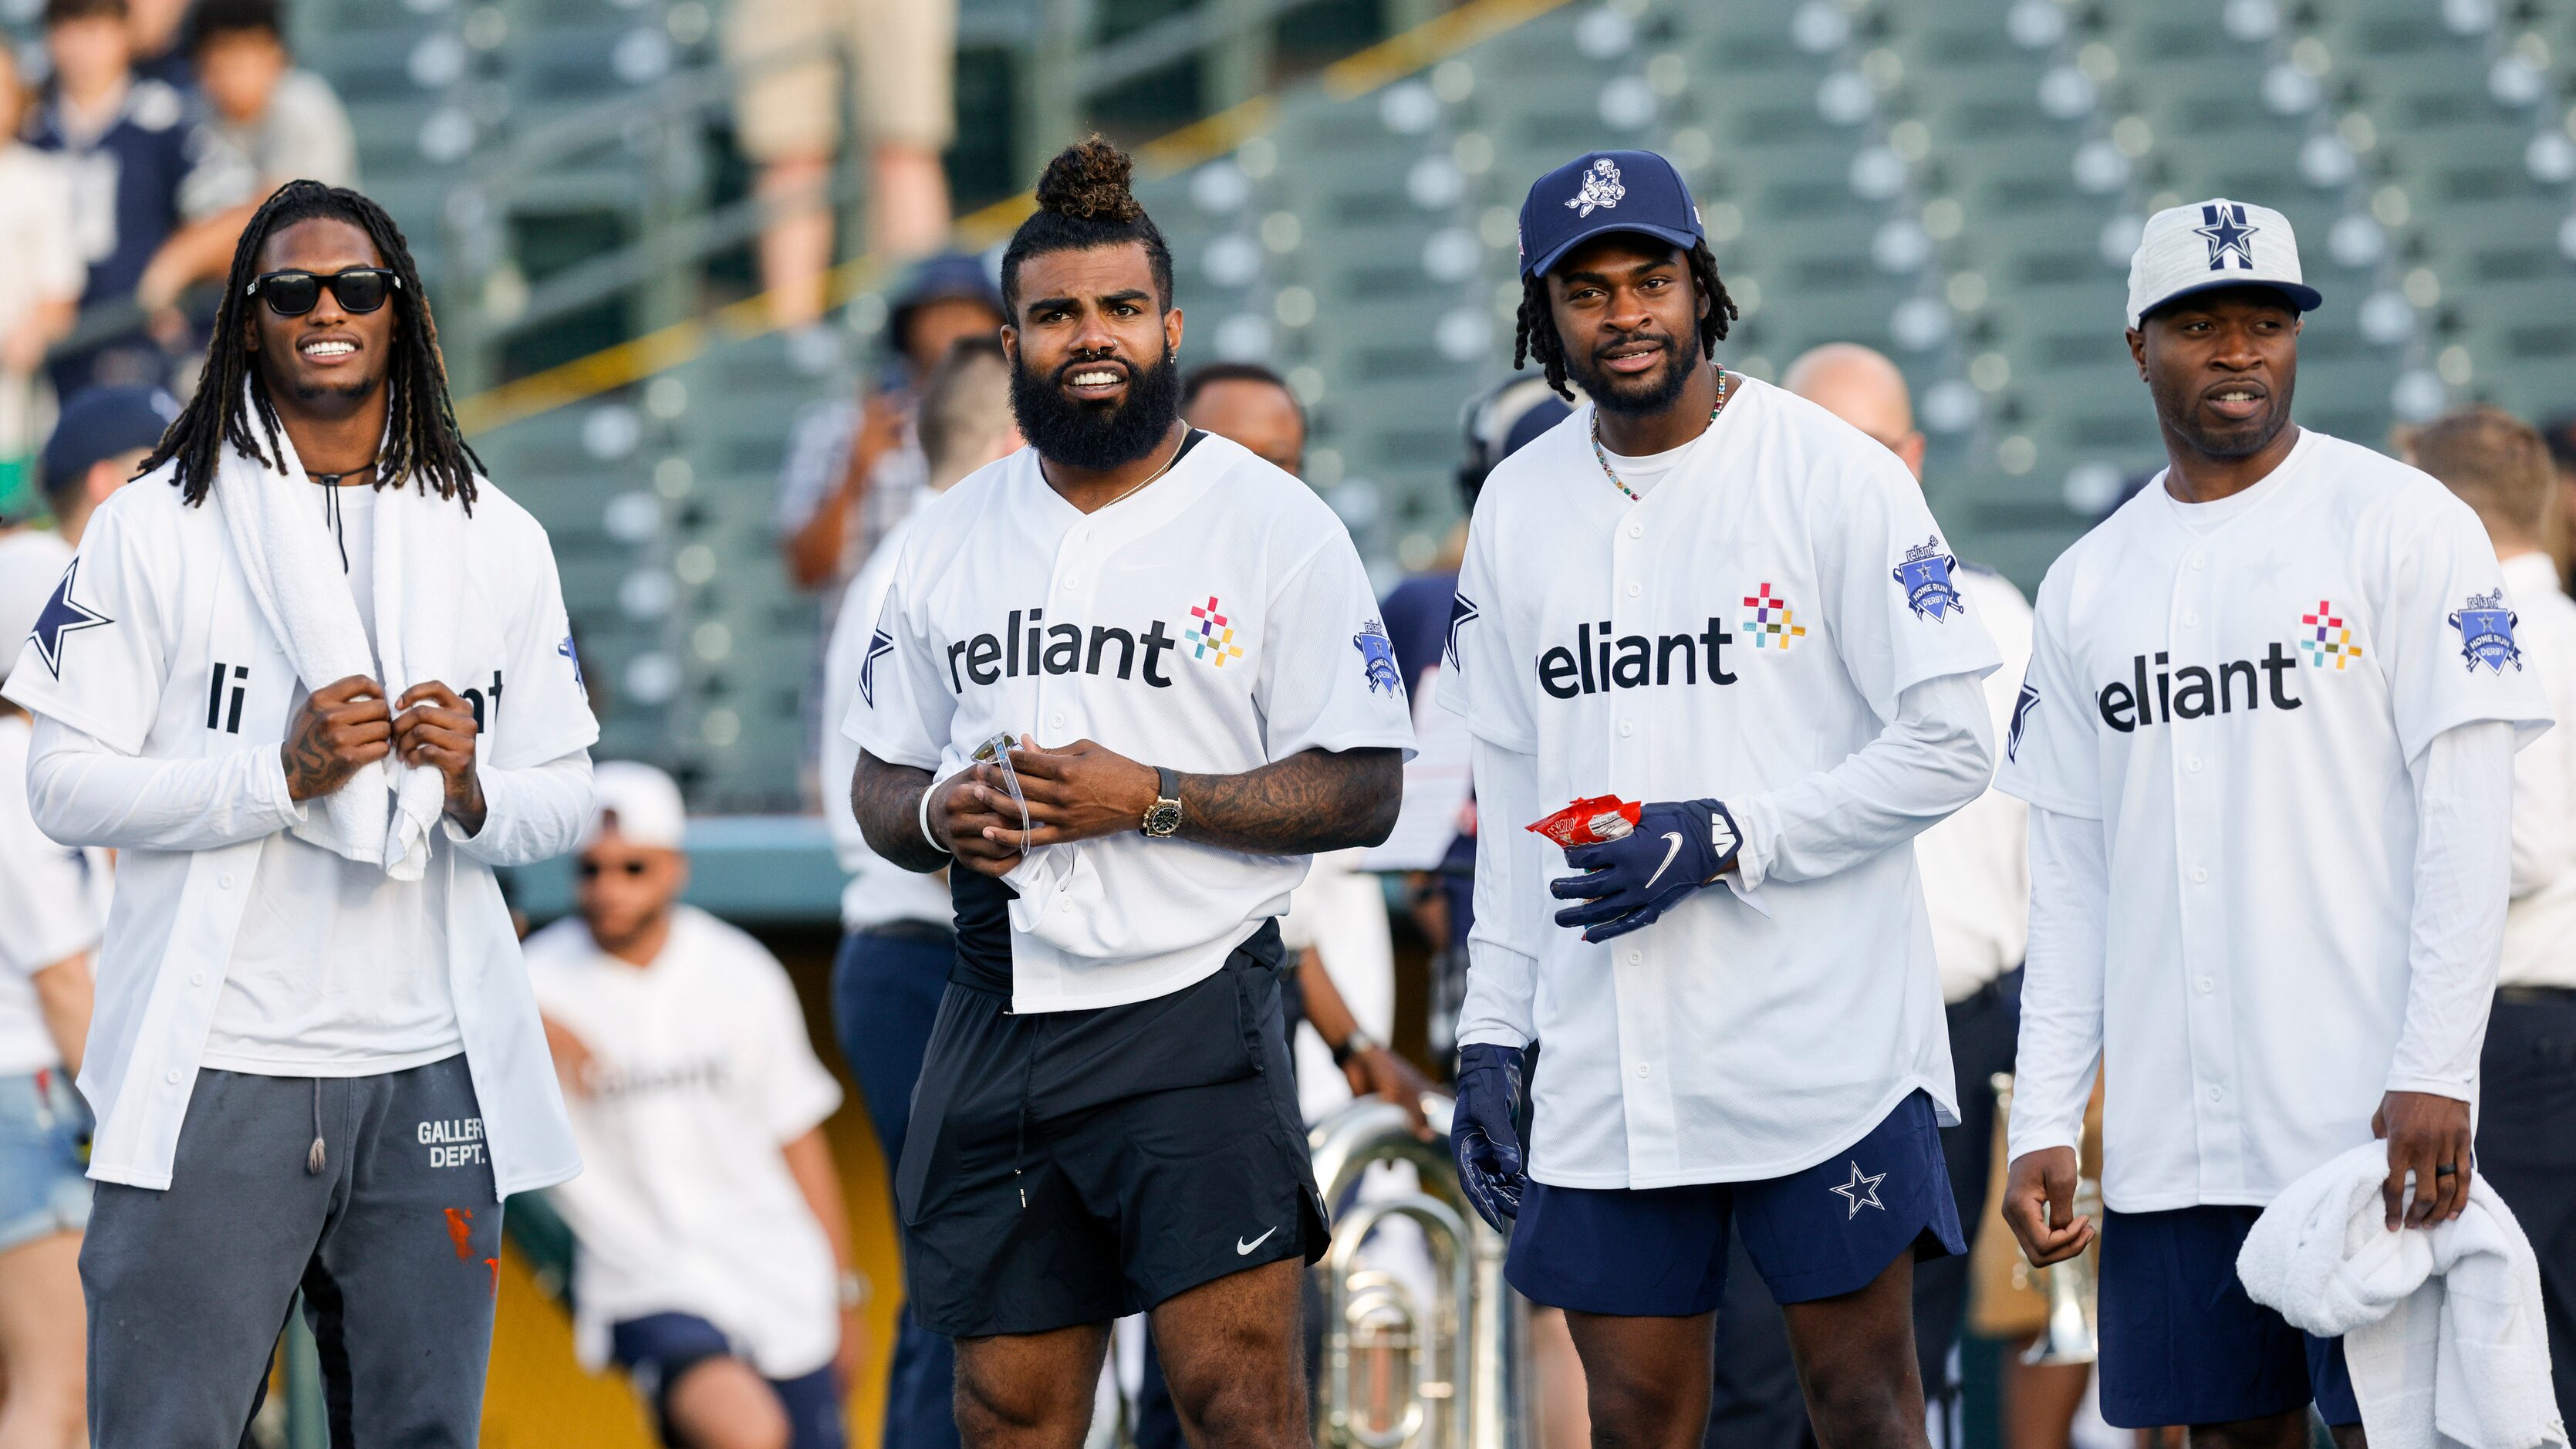
M1940 1122L1917 1091L1868 1137L1785 1178L1680 1189L1530 1181L1504 1276L1548 1307L1692 1318L1726 1292L1728 1222L1772 1302L1860 1292L1909 1248L1917 1258L1968 1250Z

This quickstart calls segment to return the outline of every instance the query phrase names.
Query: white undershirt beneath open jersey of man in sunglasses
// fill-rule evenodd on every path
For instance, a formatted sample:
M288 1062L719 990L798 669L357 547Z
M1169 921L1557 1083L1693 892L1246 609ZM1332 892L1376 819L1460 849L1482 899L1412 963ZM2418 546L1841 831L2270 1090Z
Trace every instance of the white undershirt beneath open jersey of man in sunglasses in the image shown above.
M337 505L350 593L374 642L376 490L337 487L327 503ZM289 717L304 709L307 694L299 688ZM461 1052L448 993L446 877L433 869L425 879L397 882L381 866L273 835L250 879L204 1065L273 1078L368 1078Z

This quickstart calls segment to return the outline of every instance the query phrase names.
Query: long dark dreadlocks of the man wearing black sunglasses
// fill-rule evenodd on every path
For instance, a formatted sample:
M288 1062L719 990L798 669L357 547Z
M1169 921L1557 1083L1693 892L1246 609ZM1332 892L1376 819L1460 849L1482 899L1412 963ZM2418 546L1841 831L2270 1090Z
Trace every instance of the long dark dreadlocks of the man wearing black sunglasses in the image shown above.
M438 325L430 322L430 299L420 291L412 248L404 245L402 227L386 217L384 206L345 186L322 186L319 180L289 180L242 227L242 242L232 250L232 273L224 278L224 299L214 312L214 340L206 343L206 371L196 397L162 433L142 472L178 459L173 482L180 498L198 505L214 487L224 446L242 449L268 467L286 467L278 410L260 379L258 356L242 343L242 335L255 325L250 309L260 307L260 299L250 297L250 284L260 273L260 250L268 237L317 217L366 232L386 271L402 278L389 302L399 325L394 327L394 361L384 374L386 428L374 485L435 490L438 498L456 498L471 513L474 474L484 467L464 431L456 428L456 407L448 402L448 364L438 356ZM250 410L242 407L245 389L258 410L258 431L252 431Z

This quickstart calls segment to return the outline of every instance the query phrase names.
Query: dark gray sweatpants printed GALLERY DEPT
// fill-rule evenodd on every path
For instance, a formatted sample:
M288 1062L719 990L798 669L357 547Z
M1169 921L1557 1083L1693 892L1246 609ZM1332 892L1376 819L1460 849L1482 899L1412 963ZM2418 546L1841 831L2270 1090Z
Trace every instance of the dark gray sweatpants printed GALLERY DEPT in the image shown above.
M198 1073L170 1189L98 1183L80 1284L98 1449L242 1444L299 1287L335 1449L474 1444L500 1201L466 1060Z

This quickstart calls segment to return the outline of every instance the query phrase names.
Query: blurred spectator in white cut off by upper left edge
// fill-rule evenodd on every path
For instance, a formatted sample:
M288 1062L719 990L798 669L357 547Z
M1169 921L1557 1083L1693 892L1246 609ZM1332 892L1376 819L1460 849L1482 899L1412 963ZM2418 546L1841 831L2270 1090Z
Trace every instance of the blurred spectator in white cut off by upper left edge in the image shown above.
M36 369L72 330L85 281L62 160L18 142L28 101L18 52L0 44L0 521L33 511Z

